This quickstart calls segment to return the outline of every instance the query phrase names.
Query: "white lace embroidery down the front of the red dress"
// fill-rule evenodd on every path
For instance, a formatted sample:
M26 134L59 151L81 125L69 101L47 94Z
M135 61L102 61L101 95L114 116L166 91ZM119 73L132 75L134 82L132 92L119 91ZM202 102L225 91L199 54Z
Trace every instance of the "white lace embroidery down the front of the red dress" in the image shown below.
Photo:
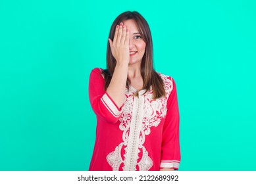
M152 100L152 91L147 91L145 95L139 91L139 96L134 97L134 89L126 90L126 102L122 108L122 114L119 118L119 129L123 131L122 140L115 151L107 155L107 162L113 170L119 170L123 163L122 170L149 170L153 166L153 160L150 158L147 150L143 146L146 135L149 135L152 127L159 126L161 120L165 118L167 112L167 99L172 91L172 80L168 76L160 74L165 83L166 96ZM121 150L124 147L124 160L121 156ZM139 153L141 159L138 163ZM162 163L163 164L163 163Z

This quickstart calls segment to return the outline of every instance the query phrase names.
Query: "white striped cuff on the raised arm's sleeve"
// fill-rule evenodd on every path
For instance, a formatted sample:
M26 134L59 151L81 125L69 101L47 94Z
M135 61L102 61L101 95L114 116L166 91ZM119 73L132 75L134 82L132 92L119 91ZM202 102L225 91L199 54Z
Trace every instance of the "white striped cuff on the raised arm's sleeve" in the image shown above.
M103 97L101 97L101 101L113 116L115 116L116 118L120 116L122 107L118 108L113 99L111 99L111 97L107 93L105 93Z

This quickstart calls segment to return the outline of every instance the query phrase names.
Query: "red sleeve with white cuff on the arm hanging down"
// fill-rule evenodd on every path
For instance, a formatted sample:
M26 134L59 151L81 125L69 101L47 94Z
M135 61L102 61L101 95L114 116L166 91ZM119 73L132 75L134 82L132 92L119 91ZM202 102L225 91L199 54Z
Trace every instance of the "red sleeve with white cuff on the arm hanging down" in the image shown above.
M163 127L160 168L174 168L174 170L178 170L180 165L180 116L178 110L176 85L172 78L171 81L172 91L167 101L166 119Z

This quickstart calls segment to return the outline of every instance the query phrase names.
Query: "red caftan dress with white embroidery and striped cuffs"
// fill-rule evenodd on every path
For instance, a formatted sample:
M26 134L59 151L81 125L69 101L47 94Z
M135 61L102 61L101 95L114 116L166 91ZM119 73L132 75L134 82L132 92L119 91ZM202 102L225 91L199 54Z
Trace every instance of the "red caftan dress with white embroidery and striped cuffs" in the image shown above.
M153 91L126 88L124 104L118 108L104 90L102 69L90 74L89 96L97 117L91 171L178 170L180 164L179 112L176 85L159 74L166 96L152 100ZM145 93L145 94L143 94Z

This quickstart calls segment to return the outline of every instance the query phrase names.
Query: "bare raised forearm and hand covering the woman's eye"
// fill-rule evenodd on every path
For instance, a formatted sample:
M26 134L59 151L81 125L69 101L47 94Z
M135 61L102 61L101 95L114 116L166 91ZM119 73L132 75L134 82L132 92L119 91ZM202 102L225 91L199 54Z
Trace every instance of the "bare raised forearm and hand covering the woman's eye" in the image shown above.
M120 26L116 26L114 39L113 41L109 39L109 44L113 57L116 59L116 67L111 82L109 83L109 87L107 88L107 93L116 103L118 108L120 108L125 101L125 87L130 60L129 32L122 22L120 23Z

